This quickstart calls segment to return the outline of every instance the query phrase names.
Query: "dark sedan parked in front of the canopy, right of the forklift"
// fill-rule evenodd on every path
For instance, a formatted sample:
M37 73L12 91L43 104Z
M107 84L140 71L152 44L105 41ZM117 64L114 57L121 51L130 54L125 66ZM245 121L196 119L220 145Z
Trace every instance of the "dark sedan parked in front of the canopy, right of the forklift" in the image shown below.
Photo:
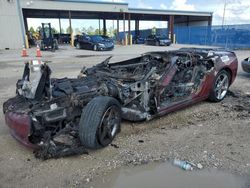
M114 43L101 35L76 35L74 46L78 49L94 51L113 50Z

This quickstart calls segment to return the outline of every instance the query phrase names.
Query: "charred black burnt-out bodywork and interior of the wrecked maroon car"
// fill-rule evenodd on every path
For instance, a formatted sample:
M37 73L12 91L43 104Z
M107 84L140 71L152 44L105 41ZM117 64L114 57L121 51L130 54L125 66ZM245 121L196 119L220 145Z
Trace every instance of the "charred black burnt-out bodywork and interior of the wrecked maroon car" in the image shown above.
M26 63L16 84L17 95L4 103L3 110L29 117L29 141L39 145L38 157L86 152L78 136L79 121L82 110L95 97L115 98L123 119L149 120L160 109L199 92L214 67L208 53L185 50L152 52L113 64L110 58L83 68L75 79L51 78L44 63L31 80L32 66Z

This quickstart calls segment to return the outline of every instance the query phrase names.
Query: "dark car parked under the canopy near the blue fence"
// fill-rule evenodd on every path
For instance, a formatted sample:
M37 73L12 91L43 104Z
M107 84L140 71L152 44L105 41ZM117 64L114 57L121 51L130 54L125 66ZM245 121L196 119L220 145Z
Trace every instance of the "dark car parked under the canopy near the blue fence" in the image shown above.
M154 45L154 46L170 46L171 40L164 36L158 35L149 35L146 40L146 45Z

